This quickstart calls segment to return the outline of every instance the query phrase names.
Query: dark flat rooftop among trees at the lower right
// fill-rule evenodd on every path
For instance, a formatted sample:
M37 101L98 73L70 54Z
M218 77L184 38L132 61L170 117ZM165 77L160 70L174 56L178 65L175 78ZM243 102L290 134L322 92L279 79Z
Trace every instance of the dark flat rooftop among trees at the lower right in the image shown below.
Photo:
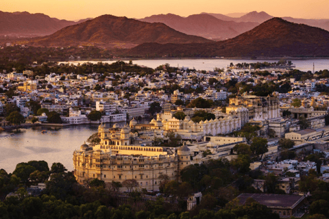
M254 198L254 200L261 205L266 205L267 207L291 207L299 203L304 196L296 196L290 194L253 194L253 193L243 193L238 196L240 204L245 204L247 198Z

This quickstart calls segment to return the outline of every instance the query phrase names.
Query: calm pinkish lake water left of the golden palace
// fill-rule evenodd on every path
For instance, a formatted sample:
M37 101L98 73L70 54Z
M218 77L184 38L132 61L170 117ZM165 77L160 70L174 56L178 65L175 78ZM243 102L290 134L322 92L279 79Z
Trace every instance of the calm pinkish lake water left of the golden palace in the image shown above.
M124 123L120 123L124 125ZM107 127L110 124L106 125ZM98 125L74 127L32 127L0 133L0 169L12 172L16 164L30 160L45 160L49 168L53 162L73 170L73 151L96 133ZM47 130L47 133L41 133ZM10 136L10 133L15 133Z

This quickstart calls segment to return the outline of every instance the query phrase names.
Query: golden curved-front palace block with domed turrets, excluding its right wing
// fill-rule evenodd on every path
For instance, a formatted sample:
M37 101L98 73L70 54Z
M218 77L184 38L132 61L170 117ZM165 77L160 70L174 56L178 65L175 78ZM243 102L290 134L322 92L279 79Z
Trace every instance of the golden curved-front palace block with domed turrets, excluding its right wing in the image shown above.
M137 133L116 124L111 129L99 126L100 144L83 144L73 153L74 175L79 183L101 179L106 183L135 179L138 188L158 190L161 176L178 177L178 155L162 147L133 145ZM125 190L125 188L122 188Z

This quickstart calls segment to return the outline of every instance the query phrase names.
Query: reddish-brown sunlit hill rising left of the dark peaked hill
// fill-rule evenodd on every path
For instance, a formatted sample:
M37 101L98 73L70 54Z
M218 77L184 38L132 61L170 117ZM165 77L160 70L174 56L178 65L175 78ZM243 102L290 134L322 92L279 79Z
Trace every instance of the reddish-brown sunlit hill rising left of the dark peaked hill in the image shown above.
M34 38L35 46L97 46L131 48L145 42L191 43L212 42L199 36L176 31L163 23L147 23L132 18L102 15L83 23L64 27L49 36Z

